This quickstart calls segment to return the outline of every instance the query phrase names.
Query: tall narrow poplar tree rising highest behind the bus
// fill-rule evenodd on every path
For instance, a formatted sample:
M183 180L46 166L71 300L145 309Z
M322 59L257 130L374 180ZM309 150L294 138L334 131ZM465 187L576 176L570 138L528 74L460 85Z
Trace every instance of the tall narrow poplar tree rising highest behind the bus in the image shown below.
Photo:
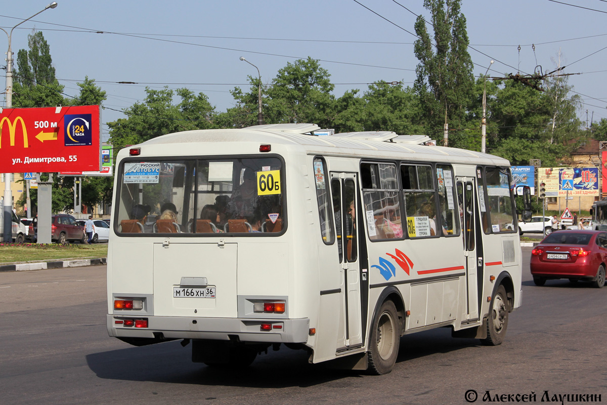
M472 99L474 79L472 60L468 53L466 18L460 12L461 0L424 0L432 13L433 39L426 29L426 20L415 22L414 52L419 64L413 88L419 95L426 134L437 139L445 121L450 128L464 129ZM462 146L458 135L450 132L449 146ZM465 145L464 145L465 146Z

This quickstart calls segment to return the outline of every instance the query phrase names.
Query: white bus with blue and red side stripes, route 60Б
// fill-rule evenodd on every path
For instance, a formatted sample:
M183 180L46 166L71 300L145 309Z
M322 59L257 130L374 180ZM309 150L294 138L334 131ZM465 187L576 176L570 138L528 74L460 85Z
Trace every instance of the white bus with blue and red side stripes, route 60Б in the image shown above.
M192 361L209 365L285 344L379 374L409 333L500 344L521 305L510 163L421 135L317 129L178 132L122 149L109 335L191 341Z

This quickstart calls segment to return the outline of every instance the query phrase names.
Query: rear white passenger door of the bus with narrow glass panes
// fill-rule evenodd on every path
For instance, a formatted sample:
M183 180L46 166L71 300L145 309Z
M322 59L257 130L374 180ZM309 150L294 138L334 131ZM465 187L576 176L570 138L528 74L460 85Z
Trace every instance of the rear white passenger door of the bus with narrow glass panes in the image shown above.
M362 345L361 283L356 230L360 219L356 217L358 187L356 174L331 173L331 197L335 217L340 271L342 308L339 316L337 352Z

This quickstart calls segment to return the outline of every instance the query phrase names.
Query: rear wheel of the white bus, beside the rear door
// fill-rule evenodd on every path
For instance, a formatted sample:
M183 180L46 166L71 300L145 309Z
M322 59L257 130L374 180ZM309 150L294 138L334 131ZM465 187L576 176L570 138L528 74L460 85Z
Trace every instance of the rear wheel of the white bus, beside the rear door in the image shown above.
M368 367L371 372L382 375L392 371L401 342L399 330L396 307L392 301L385 301L371 325L368 351Z

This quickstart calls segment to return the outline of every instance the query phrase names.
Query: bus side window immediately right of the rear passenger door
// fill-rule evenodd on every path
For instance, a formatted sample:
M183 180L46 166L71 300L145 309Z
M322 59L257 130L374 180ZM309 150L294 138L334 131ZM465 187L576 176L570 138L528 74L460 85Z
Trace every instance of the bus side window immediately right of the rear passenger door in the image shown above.
M396 166L361 163L362 199L371 240L402 239L402 216Z

